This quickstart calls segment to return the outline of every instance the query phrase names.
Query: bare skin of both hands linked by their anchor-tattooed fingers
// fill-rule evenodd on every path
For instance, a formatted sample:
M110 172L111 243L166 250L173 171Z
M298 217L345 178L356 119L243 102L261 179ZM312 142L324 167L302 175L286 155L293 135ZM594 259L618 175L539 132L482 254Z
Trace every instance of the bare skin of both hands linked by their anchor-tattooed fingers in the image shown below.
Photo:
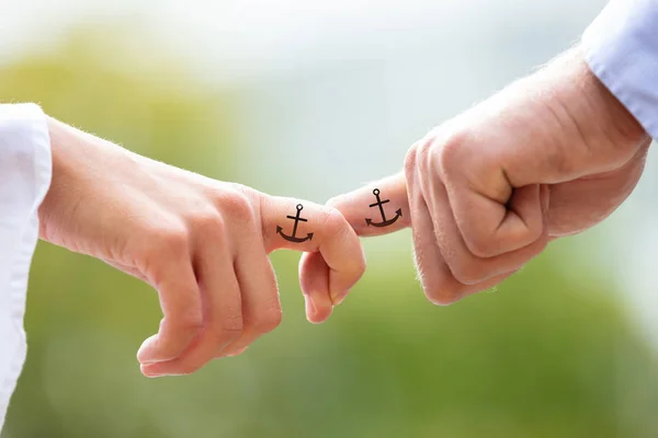
M325 321L363 274L356 234L412 227L434 303L488 289L551 240L614 211L650 142L575 49L430 131L404 172L331 207L303 203L308 222L297 235L314 239L297 244L276 234L296 199L155 162L54 119L49 128L54 174L41 237L158 290L160 330L138 353L149 377L193 372L274 328L281 307L268 254L280 247L305 252L299 275L311 322ZM401 209L395 224L365 223L374 188L390 199L386 208Z

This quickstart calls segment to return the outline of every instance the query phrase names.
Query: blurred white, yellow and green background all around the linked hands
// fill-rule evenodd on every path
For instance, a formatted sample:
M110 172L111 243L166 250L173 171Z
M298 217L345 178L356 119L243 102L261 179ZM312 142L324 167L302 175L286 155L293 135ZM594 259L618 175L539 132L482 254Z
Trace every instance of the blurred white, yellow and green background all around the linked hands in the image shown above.
M2 0L0 101L208 176L322 203L578 41L604 0ZM39 243L3 438L657 437L658 169L605 223L436 308L409 232L324 325L297 253L280 328L148 380L156 293Z

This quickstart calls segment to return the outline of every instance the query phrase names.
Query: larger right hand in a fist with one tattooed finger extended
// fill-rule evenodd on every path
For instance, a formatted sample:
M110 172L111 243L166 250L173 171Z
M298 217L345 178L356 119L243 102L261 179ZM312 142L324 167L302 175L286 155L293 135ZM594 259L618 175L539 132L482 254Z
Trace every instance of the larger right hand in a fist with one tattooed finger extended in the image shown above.
M631 194L649 138L579 50L435 128L404 174L329 201L361 235L411 226L416 263L438 304L488 289L555 238L589 229ZM373 189L389 216L376 228Z

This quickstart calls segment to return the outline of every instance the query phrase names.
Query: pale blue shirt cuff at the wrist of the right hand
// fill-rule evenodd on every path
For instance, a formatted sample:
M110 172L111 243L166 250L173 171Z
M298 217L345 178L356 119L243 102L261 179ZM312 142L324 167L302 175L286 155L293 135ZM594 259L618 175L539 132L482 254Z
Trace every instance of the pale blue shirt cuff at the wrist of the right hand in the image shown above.
M658 139L658 0L612 0L582 47L593 73Z

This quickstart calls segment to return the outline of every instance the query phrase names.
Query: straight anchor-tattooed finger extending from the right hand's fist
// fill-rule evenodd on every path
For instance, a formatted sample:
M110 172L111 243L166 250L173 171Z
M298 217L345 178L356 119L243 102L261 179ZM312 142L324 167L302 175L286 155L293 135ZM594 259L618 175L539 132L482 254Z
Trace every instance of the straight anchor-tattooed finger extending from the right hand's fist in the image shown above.
M388 234L411 224L402 172L333 197L327 205L342 212L362 237Z

